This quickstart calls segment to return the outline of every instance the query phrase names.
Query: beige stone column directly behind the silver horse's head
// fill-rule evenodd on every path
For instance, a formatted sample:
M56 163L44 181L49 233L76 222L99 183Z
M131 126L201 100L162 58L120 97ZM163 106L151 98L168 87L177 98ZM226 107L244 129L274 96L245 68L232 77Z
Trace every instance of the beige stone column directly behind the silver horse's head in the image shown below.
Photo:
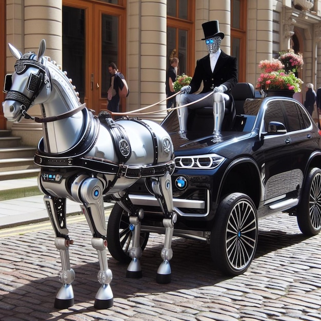
M28 51L37 53L39 43L45 39L47 47L45 55L62 65L62 0L42 0L41 2L25 0L23 3L24 44L19 50L23 53ZM32 115L41 115L38 105L30 108L29 112ZM23 119L19 124L13 124L11 129L13 135L22 137L25 145L36 145L42 136L42 124L26 119Z

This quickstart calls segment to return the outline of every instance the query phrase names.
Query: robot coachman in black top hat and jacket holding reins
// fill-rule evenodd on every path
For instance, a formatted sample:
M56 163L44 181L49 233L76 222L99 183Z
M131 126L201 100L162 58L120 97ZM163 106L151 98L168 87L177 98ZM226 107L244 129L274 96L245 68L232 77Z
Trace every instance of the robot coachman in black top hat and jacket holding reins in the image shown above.
M182 93L188 94L181 95L180 106L194 102L211 91L228 93L237 84L237 59L220 49L225 34L219 31L218 21L206 22L202 24L202 27L205 36L202 40L205 41L209 54L197 61L191 83L180 90ZM194 94L199 90L202 82L203 90L199 94ZM229 99L227 95L225 98ZM206 98L203 104L213 106L213 95ZM192 108L192 105L189 108ZM178 110L178 114L182 118L180 119L182 133L186 131L188 116L188 112L183 109Z

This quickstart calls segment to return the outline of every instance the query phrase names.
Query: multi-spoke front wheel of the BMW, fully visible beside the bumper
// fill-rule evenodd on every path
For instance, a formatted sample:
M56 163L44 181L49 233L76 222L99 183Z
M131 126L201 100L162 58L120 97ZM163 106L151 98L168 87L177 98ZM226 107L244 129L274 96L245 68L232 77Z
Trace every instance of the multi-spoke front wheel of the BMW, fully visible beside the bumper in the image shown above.
M242 193L226 196L216 211L210 249L217 268L228 275L244 273L257 246L257 214L252 199Z

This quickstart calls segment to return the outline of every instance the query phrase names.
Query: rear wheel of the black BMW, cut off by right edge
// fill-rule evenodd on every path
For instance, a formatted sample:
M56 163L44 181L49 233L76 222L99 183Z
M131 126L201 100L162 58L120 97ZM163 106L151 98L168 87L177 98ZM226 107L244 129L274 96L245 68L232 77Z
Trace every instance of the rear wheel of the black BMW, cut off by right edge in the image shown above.
M308 173L297 207L297 224L304 235L313 236L321 230L321 170Z

